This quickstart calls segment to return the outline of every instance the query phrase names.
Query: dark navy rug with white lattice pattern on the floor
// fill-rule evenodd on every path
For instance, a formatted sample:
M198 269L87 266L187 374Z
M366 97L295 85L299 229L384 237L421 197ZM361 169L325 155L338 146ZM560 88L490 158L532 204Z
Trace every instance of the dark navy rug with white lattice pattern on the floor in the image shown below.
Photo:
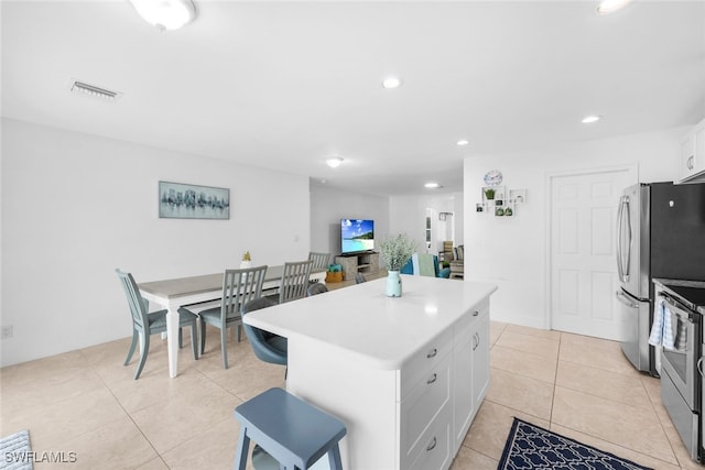
M652 470L514 418L497 470Z

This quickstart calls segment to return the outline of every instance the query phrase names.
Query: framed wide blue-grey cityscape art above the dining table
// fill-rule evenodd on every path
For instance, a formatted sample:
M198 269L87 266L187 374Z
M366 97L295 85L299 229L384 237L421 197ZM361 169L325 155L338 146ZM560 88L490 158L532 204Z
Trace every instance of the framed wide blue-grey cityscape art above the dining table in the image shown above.
M159 182L159 217L227 220L230 218L230 189Z

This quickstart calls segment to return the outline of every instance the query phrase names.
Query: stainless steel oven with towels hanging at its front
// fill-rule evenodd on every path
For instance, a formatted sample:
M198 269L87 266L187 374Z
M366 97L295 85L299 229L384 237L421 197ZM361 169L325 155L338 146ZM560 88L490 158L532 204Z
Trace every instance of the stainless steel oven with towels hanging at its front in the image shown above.
M702 316L658 284L654 309L670 317L674 339L673 349L661 352L661 400L691 457L701 460Z

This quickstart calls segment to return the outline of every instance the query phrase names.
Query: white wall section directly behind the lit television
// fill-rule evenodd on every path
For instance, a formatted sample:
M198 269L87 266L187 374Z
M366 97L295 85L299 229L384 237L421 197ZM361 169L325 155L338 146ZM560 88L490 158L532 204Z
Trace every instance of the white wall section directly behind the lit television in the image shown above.
M375 243L389 233L389 198L311 183L311 251L340 254L340 219L375 220Z

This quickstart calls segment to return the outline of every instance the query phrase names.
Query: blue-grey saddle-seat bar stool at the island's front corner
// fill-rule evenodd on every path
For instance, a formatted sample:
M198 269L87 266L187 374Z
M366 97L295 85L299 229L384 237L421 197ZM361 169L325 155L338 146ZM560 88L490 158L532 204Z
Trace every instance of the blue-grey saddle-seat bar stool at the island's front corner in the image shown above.
M332 470L343 470L338 442L345 424L282 389L270 389L235 408L240 440L235 468L245 470L250 439L282 469L306 470L324 453Z

